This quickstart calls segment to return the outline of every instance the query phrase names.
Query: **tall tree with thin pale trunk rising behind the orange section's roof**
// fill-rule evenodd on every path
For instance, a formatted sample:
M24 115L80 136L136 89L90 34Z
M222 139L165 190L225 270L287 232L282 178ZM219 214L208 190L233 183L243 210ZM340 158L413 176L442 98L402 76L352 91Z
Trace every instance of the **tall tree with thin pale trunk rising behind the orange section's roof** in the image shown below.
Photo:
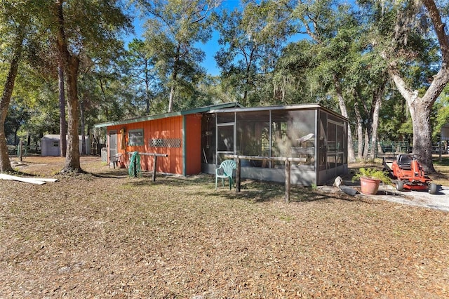
M170 90L168 111L175 98L192 98L204 70L199 63L204 53L197 46L210 39L208 16L215 0L135 1L149 15L145 24L145 50L154 62L156 81ZM179 106L179 105L178 105ZM180 105L182 106L182 104Z

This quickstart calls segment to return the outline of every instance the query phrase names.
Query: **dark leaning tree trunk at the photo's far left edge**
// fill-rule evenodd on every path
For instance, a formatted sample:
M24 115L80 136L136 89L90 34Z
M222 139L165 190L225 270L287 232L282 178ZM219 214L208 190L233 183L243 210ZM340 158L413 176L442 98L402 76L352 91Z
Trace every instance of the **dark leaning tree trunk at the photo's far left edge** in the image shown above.
M11 102L11 96L13 95L15 77L17 77L19 60L20 56L22 55L24 39L25 34L20 32L14 44L13 58L11 59L11 63L9 65L8 77L6 77L4 91L0 99L0 173L3 173L4 171L13 171L8 156L8 144L6 142L6 133L5 133L5 120L6 114L8 114L8 107L9 103Z

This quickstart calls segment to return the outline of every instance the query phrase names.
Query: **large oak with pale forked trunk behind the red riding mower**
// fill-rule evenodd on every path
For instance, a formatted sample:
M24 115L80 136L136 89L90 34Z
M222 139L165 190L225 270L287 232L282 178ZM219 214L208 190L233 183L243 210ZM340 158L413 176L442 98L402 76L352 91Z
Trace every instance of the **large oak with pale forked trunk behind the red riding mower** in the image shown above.
M373 43L388 63L388 72L407 102L413 124L413 153L427 173L432 162L431 111L449 81L449 39L445 7L434 0L366 1ZM443 4L441 4L443 5Z

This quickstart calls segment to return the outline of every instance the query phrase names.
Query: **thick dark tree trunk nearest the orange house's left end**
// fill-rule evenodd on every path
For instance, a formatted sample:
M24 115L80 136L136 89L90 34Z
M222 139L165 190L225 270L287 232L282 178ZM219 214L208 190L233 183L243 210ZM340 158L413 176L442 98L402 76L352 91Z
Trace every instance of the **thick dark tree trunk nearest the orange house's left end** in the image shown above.
M58 18L58 32L56 34L56 46L67 80L67 154L65 157L65 166L62 172L81 171L79 163L79 137L78 137L78 68L79 58L69 53L69 46L65 39L64 15L62 12L62 2L55 1L55 13Z

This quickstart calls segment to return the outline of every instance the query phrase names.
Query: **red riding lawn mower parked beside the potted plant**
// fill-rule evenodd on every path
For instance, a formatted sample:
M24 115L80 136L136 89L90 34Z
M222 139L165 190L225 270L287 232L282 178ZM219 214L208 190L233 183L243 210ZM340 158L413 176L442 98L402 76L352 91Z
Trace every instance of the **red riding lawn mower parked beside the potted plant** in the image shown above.
M420 155L398 154L393 161L384 159L384 166L391 171L396 190L429 190L430 194L437 194L438 185L425 175L417 159Z

